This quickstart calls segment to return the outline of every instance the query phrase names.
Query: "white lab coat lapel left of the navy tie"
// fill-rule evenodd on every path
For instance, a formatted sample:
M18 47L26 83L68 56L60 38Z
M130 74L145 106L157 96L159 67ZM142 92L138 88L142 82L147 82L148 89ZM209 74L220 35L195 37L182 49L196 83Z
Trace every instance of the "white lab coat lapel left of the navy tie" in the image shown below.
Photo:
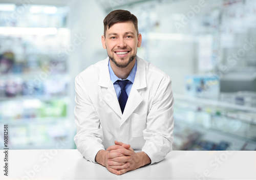
M101 87L103 100L115 111L115 113L121 118L122 111L119 106L119 102L116 96L115 87L110 79L109 72L109 58L105 59L100 69L99 86Z

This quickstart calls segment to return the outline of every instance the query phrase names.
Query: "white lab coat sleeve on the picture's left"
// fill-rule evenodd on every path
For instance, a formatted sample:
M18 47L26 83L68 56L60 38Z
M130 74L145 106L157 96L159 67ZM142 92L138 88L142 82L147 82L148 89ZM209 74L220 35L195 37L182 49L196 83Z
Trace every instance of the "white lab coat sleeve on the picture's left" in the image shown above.
M96 163L95 156L99 150L104 149L103 131L100 126L99 117L88 95L86 85L78 75L75 79L75 123L77 133L74 141L77 150L81 152L85 159Z

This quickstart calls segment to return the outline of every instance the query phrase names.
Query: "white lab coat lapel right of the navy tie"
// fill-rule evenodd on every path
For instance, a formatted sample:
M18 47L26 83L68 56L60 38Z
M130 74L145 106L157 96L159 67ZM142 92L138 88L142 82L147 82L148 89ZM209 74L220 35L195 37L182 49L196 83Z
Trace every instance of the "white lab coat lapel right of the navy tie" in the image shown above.
M121 119L121 124L123 124L133 113L133 111L139 106L143 101L142 96L139 94L138 89L146 87L146 67L142 59L136 56L137 59L137 71L134 79L134 83L127 99L123 116Z

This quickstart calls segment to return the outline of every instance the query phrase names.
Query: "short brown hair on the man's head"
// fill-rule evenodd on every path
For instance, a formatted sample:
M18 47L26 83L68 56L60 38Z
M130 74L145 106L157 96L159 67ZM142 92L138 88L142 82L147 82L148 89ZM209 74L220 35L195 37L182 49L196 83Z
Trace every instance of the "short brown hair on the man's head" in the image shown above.
M130 11L126 10L114 10L111 11L103 20L104 24L104 36L106 36L106 28L110 29L117 22L126 22L132 21L134 27L137 31L137 35L139 34L138 30L138 19L135 15L133 15Z

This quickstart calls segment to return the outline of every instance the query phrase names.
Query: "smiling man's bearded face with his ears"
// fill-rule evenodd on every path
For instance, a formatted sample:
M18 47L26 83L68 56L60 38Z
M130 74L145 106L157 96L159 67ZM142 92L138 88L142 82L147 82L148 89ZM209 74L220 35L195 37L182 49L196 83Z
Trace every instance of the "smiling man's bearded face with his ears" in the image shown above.
M141 34L132 21L118 22L106 30L105 37L101 36L102 46L109 58L119 68L125 68L136 57L137 47L141 45Z

